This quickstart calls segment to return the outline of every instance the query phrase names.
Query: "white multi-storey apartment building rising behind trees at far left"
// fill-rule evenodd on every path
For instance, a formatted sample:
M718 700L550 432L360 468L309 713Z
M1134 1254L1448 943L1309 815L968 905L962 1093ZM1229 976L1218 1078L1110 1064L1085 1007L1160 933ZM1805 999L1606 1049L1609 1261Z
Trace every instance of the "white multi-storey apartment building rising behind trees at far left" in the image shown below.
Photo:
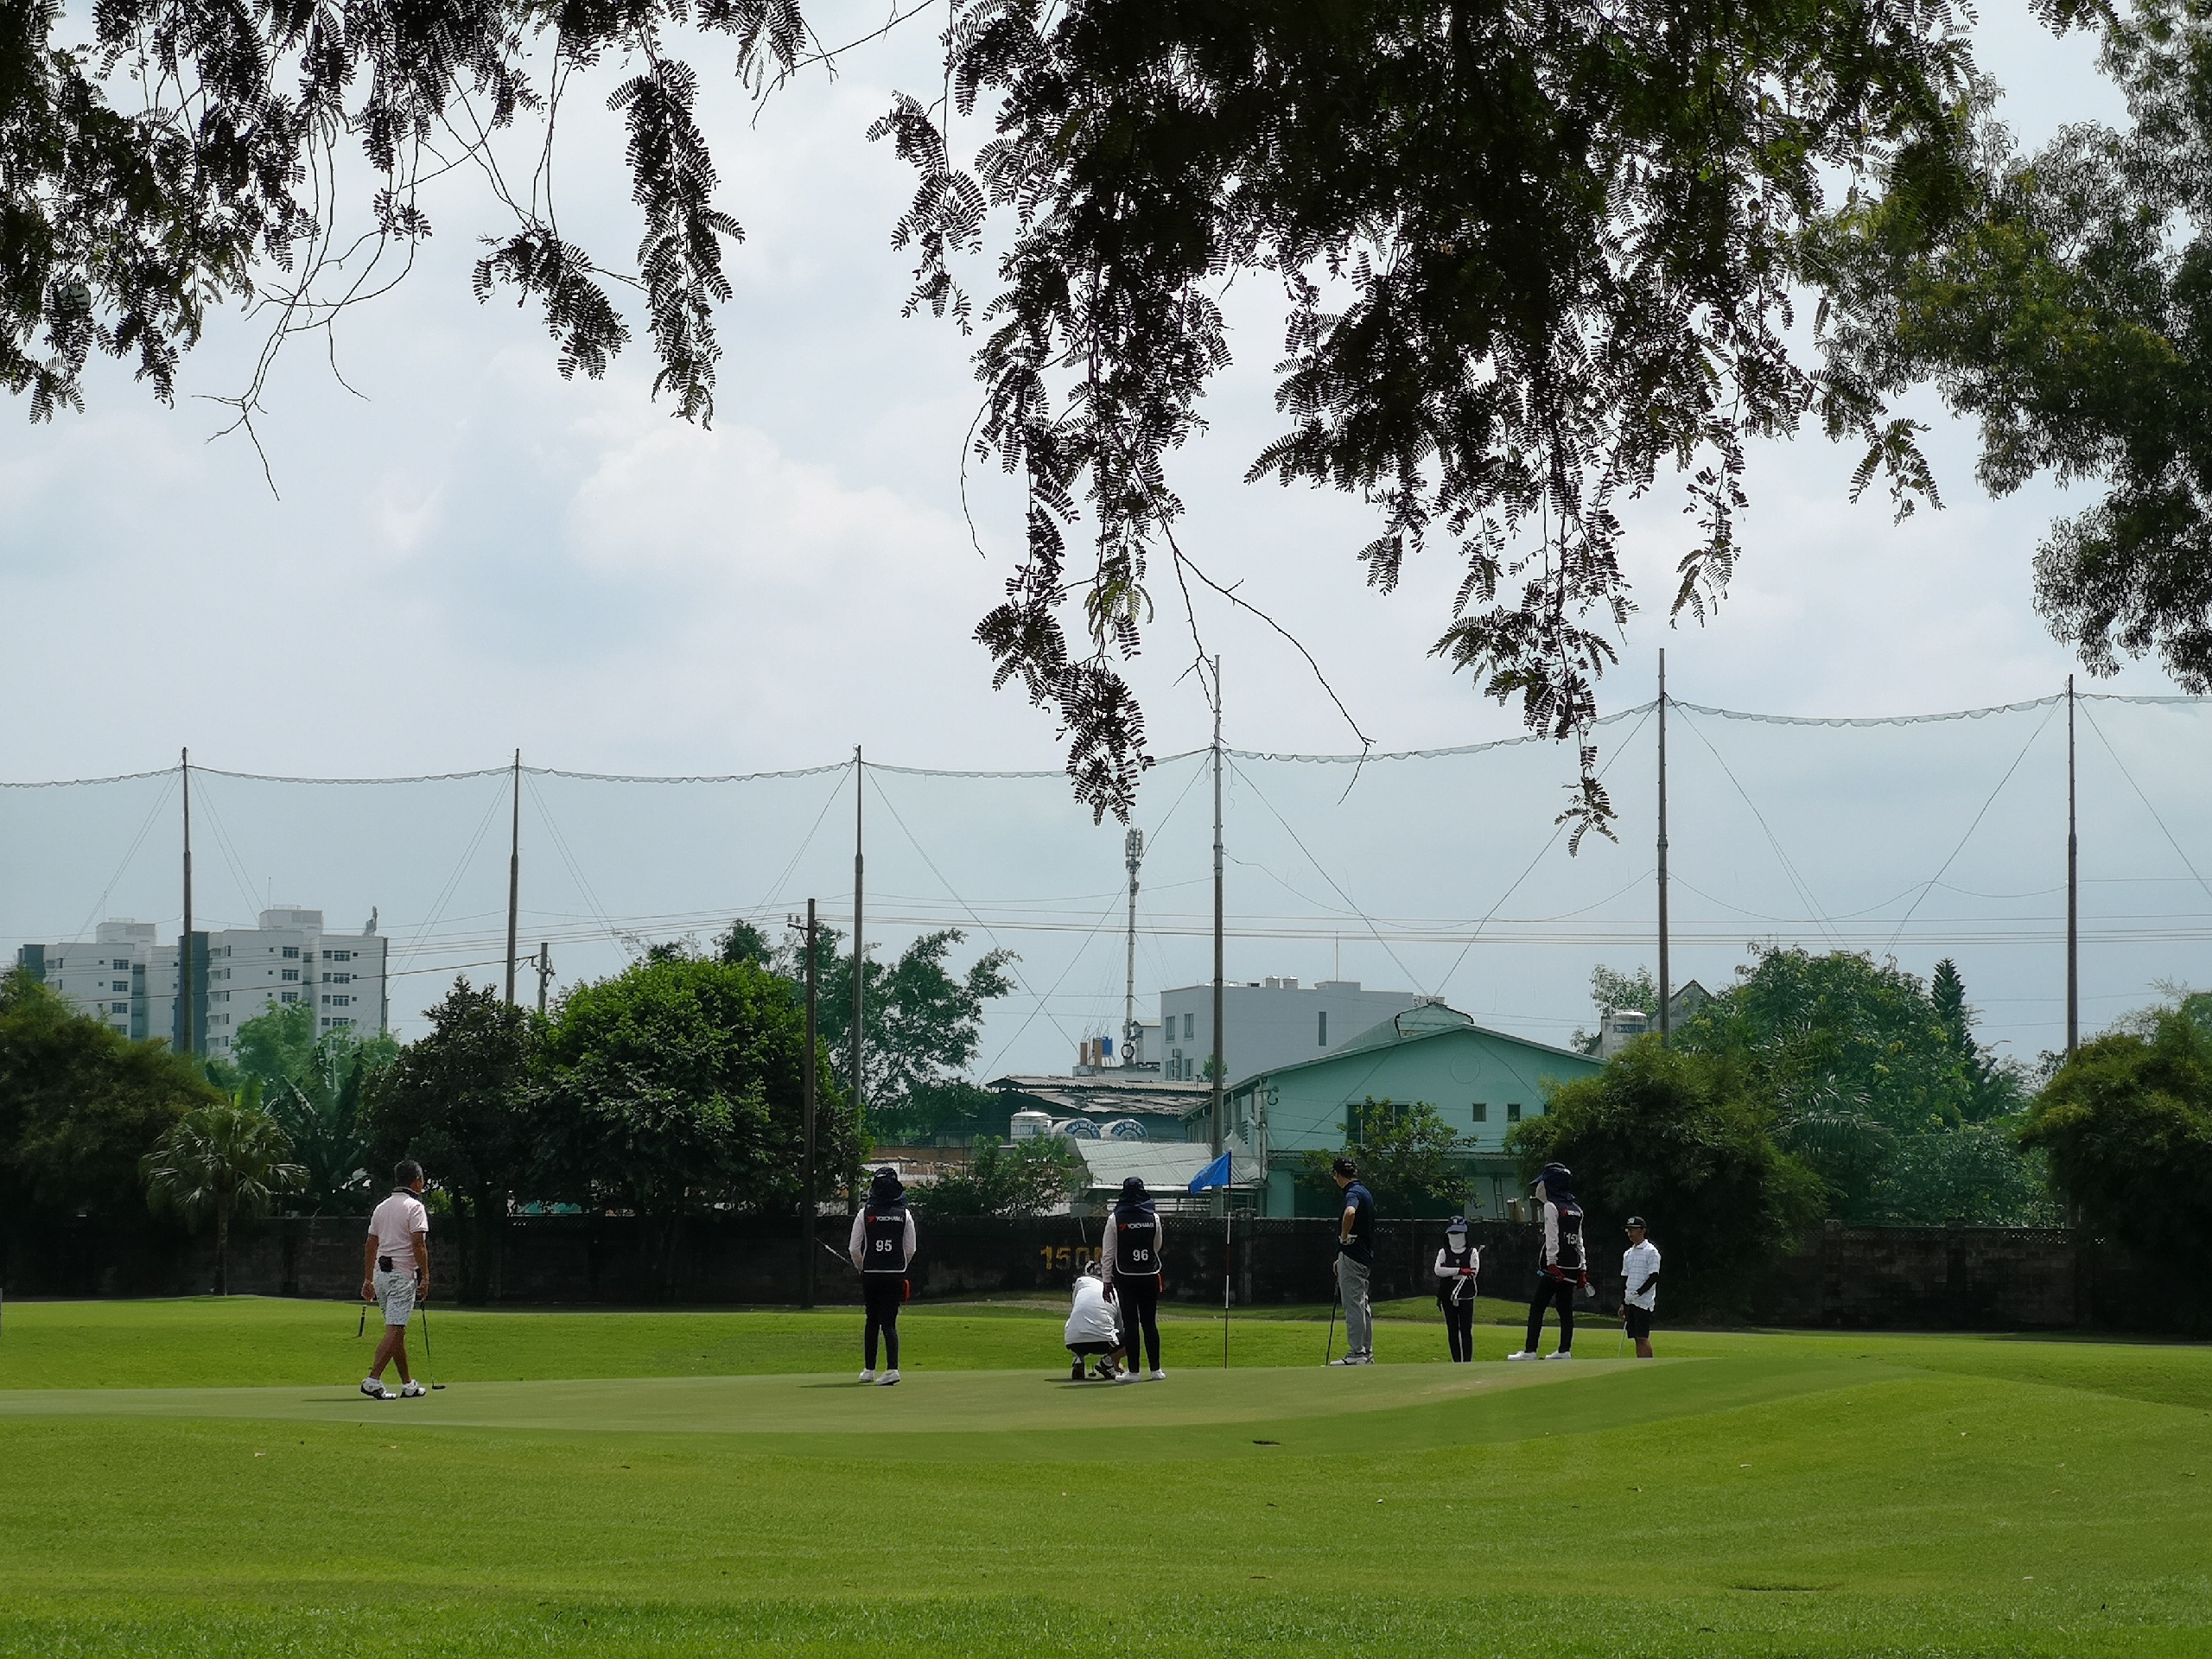
M192 933L192 1037L204 1055L228 1060L239 1026L274 1004L307 1002L316 1035L392 1024L387 940L376 918L358 933L325 933L323 911L281 905L259 927ZM161 945L153 922L102 922L91 942L24 945L15 960L60 991L77 1013L126 1037L168 1037L184 1046L177 1020L177 945Z

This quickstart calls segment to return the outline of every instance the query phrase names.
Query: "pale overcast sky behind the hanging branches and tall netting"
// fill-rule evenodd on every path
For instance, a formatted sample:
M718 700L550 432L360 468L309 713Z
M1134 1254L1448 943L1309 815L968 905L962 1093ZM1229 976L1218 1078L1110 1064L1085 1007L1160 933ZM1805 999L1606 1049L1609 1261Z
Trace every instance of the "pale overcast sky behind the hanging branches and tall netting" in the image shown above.
M878 20L852 7L816 18L825 38ZM2115 111L2088 44L2051 40L2020 4L1986 9L1982 60L2028 139ZM170 765L181 745L212 768L319 776L498 765L518 745L531 763L593 772L803 768L849 757L854 743L869 759L920 768L1057 768L1051 721L993 692L989 661L969 641L1009 568L1015 500L993 476L969 478L978 553L962 518L962 434L975 409L967 345L945 323L900 319L907 265L889 250L889 226L911 184L887 146L863 139L894 86L933 82L931 64L929 33L909 29L854 55L836 82L801 82L757 115L730 86L712 95L721 199L748 232L730 265L737 296L721 314L712 429L655 407L644 347L604 383L564 383L531 312L469 296L476 234L498 228L471 179L431 197L438 234L405 285L349 314L327 352L294 343L279 363L261 416L274 491L250 442L217 436L223 409L210 398L241 385L259 343L234 312L215 319L170 409L115 369L91 376L82 416L29 427L18 409L0 438L9 504L0 648L20 714L0 776L135 772ZM564 117L562 226L615 263L635 226L619 133L591 104L577 97ZM1383 597L1363 586L1352 557L1371 533L1365 509L1239 482L1274 434L1276 332L1259 285L1232 294L1230 312L1239 365L1208 403L1212 434L1175 462L1190 502L1186 546L1212 573L1243 580L1307 641L1378 745L1515 734L1511 712L1427 657L1460 577L1449 549L1431 551L1400 593ZM1659 646L1677 697L1739 710L1898 714L2057 690L2068 659L2033 615L2028 562L2066 502L2044 487L1986 500L1971 478L1971 431L1933 405L1922 411L1936 422L1929 447L1947 511L1896 526L1880 502L1847 502L1849 453L1812 436L1763 449L1750 478L1747 551L1705 626L1663 622L1686 531L1679 498L1661 484L1632 518L1646 611L1604 686L1608 708L1650 697ZM1283 641L1221 606L1201 606L1199 622L1208 648L1225 657L1232 745L1354 748ZM1190 650L1188 630L1164 608L1133 668L1164 754L1206 741L1203 699L1179 679ZM2172 686L2135 666L2101 690ZM2203 821L2188 774L2203 768L2170 765L2177 743L2201 741L2201 726L2124 728L2130 714L2108 717L2121 752L2141 743L2135 776L2181 849L2112 772L2099 810L2117 816L2086 854L2086 872L2163 885L2095 902L2112 916L2150 914L2163 936L2090 951L2093 1024L2152 995L2157 978L2205 978L2203 945L2170 936L2203 920L2192 914L2205 909L2205 891L2190 863L2212 869L2212 847L2188 830ZM1911 750L1909 761L1905 750L1818 748L1829 741L1818 734L1717 730L1721 750L1739 737L1747 745L1728 750L1734 783L1699 759L1701 739L1683 734L1679 869L1703 887L1677 894L1679 975L1725 980L1754 936L1885 947L1887 922L1960 845L2031 728L2033 717L1942 728L1929 739L1938 748ZM1626 734L1626 723L1606 728L1613 743ZM2048 938L2028 933L2048 931L2055 902L2053 825L2062 834L2064 821L2051 812L2062 812L2053 801L2064 750L2053 743L2062 741L2042 732L1947 878L1958 887L1969 869L1989 883L2017 876L2004 887L2015 894L2004 927L2017 938L1991 942L1964 920L1949 936L1949 922L1929 929L1931 916L1966 916L1942 902L1922 905L1896 936L1916 971L1958 953L1989 1029L2020 1053L2057 1040L2059 958ZM1440 772L1420 781L1405 772L1394 783L1365 776L1343 799L1312 783L1312 770L1281 779L1248 770L1232 787L1230 843L1243 860L1232 911L1250 927L1232 945L1230 973L1318 978L1340 967L1564 1040L1588 1020L1582 987L1593 960L1650 960L1637 938L1650 914L1648 818L1624 816L1617 849L1590 847L1582 860L1562 847L1544 854L1548 863L1498 911L1528 918L1520 945L1385 949L1376 933L1491 914L1548 843L1568 765L1537 748L1509 752L1491 772L1451 774L1469 779L1460 794L1438 785ZM1648 814L1648 770L1641 750L1621 761L1624 814ZM1170 796L1181 801L1161 843L1164 858L1177 845L1179 863L1159 869L1157 914L1148 898L1146 925L1159 936L1146 940L1146 998L1206 971L1203 940L1170 927L1170 916L1206 909L1190 885L1206 874L1203 785L1179 796L1186 783L1188 768L1168 768L1137 814L1157 825ZM374 902L387 929L414 929L425 969L396 998L403 1015L436 993L451 964L484 958L502 922L504 832L471 836L489 823L495 783L447 785L436 807L405 792L283 805L248 785L232 785L226 807L223 787L210 785L210 801L226 814L228 863L204 874L201 916L246 920L250 900L274 896L327 905L334 925L354 927L354 911ZM781 914L807 891L843 911L849 787L843 807L830 799L843 787L836 779L774 787L774 805L745 818L754 827L741 834L699 792L670 807L668 792L593 794L549 781L524 821L524 945L544 931L597 929L597 945L555 956L568 980L617 964L622 931L703 927L699 918L734 909ZM876 854L887 936L898 942L945 918L967 922L982 945L973 920L982 916L1024 956L1020 1006L995 1011L978 1064L1057 1068L1073 1035L1115 1029L1119 942L1099 927L1119 880L1119 830L1091 830L1048 779L962 785L967 794L896 779L885 787L914 830L911 841L898 841L894 823L878 830L889 838ZM73 801L13 792L4 803L13 852L0 854L7 947L66 936L97 914L175 922L173 830L150 790L97 801L97 792ZM898 790L933 794L900 801ZM810 841L816 818L827 827ZM142 827L148 841L131 854ZM1194 836L1188 847L1177 843L1183 832ZM204 872L212 856L204 852ZM1741 916L1721 905L1728 883ZM1703 905L1701 894L1717 898ZM1900 898L1878 911L1891 894ZM1048 900L1068 900L1082 927L1022 931ZM1604 922L1601 936L1553 938L1559 927L1537 925L1575 907ZM1854 907L1878 911L1871 931L1836 920ZM1349 931L1321 942L1314 918L1329 909ZM1292 914L1307 920L1281 925ZM1369 929L1358 914L1398 920Z

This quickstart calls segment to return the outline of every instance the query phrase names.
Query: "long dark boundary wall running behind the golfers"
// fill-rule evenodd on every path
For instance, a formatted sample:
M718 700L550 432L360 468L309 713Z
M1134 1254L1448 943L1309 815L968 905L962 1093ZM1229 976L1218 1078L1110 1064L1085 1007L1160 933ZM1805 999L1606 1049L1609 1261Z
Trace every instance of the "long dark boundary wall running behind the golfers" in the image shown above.
M1223 1223L1183 1214L1166 1223L1168 1298L1219 1307ZM827 1250L816 1254L816 1301L825 1305L858 1301L856 1276L832 1261L832 1252L843 1256L847 1225L830 1217L818 1225ZM1075 1267L1097 1254L1099 1225L1097 1217L931 1221L922 1214L914 1294L1064 1296ZM361 1285L365 1230L365 1217L234 1223L230 1287L349 1301ZM1378 1223L1376 1298L1427 1296L1442 1237L1442 1221ZM1526 1298L1535 1230L1478 1221L1473 1237L1484 1252L1482 1294ZM431 1239L438 1294L449 1301L460 1285L465 1241L445 1219L431 1223ZM1659 1243L1663 1250L1666 1241ZM686 1217L672 1225L637 1217L513 1217L482 1274L484 1301L790 1305L799 1301L799 1250L794 1223L757 1217ZM1334 1221L1237 1217L1232 1303L1323 1303L1334 1292ZM1613 1307L1621 1292L1617 1256L1599 1250L1597 1261L1606 1270L1597 1303ZM1827 1223L1750 1290L1741 1312L1756 1325L1814 1329L2185 1329L2190 1312L2174 1303L2168 1279L2068 1230ZM212 1287L212 1232L186 1239L153 1225L77 1221L0 1239L7 1296L195 1296ZM1661 1318L1663 1310L1666 1303Z

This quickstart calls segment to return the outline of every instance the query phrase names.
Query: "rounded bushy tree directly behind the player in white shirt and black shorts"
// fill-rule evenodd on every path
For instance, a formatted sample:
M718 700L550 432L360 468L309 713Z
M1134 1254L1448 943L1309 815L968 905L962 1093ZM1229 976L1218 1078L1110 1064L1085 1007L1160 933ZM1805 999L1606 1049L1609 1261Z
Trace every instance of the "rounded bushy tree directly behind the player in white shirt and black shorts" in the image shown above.
M1641 1037L1595 1077L1553 1088L1506 1146L1531 1177L1553 1159L1575 1172L1595 1252L1641 1214L1666 1252L1670 1303L1721 1310L1825 1208L1820 1177L1776 1146L1774 1128L1741 1057Z

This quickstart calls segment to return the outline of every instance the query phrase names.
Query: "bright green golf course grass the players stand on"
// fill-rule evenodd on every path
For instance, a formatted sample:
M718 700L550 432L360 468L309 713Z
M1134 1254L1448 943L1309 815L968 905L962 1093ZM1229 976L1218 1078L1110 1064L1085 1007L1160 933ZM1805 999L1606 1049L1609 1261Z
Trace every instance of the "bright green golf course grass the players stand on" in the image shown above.
M431 1318L374 1405L349 1307L9 1305L0 1655L2212 1652L2201 1347L1179 1318L1113 1387L925 1305L865 1389L845 1312Z

